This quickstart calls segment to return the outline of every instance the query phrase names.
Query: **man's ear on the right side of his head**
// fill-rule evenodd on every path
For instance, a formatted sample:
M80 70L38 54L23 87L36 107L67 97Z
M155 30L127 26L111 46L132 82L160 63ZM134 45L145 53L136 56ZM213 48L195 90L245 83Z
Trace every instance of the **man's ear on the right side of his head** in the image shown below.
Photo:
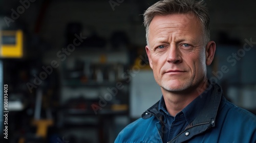
M206 65L210 65L214 60L214 54L216 51L216 43L214 41L210 41L206 45L205 56L206 56Z

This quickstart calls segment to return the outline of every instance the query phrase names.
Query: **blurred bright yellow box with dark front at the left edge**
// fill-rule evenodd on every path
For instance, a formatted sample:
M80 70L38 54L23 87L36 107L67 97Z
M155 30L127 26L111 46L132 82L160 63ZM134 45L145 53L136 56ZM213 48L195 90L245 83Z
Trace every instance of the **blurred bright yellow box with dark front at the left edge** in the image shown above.
M23 31L2 31L0 57L23 57Z

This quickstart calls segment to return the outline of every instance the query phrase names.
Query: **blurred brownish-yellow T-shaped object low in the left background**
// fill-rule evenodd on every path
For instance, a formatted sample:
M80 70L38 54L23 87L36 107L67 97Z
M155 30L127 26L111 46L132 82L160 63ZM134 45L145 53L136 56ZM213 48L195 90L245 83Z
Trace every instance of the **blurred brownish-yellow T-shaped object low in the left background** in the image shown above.
M53 125L52 120L34 120L33 125L37 126L36 135L46 138L48 126Z

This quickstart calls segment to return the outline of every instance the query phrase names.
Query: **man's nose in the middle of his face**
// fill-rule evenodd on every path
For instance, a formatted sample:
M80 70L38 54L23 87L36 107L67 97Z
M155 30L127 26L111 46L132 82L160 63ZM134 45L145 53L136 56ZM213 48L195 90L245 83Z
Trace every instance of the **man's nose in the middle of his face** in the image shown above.
M181 52L175 44L171 44L167 53L167 62L180 63L181 61Z

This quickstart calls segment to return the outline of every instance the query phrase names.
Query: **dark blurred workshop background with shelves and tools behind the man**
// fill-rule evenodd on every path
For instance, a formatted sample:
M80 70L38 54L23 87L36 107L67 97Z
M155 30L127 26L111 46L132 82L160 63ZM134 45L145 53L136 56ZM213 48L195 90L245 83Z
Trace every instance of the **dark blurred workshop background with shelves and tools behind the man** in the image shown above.
M0 1L0 142L113 142L161 97L144 47L157 1ZM209 79L256 114L255 2L210 1ZM8 87L4 87L8 85ZM4 92L8 91L8 92Z

